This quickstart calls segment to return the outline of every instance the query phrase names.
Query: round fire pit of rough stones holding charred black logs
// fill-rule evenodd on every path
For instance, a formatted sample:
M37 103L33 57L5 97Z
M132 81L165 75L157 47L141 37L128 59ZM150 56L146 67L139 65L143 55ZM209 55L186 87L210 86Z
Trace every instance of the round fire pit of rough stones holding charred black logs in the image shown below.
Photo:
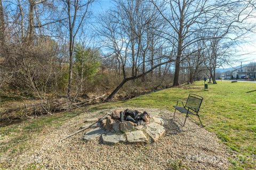
M91 140L101 136L103 143L114 144L126 141L148 142L149 136L155 142L165 133L163 124L162 118L150 117L146 111L115 110L106 115L95 129L86 132L84 139Z

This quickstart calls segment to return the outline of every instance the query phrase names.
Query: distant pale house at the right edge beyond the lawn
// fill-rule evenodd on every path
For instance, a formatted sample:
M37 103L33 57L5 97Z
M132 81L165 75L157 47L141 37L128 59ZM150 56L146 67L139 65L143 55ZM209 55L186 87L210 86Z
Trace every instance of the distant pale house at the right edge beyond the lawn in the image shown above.
M255 73L256 71L254 69L252 70L252 66L249 66L249 65L244 65L232 71L232 75L234 79L236 78L237 75L239 79L242 79L246 75L248 77L255 77Z

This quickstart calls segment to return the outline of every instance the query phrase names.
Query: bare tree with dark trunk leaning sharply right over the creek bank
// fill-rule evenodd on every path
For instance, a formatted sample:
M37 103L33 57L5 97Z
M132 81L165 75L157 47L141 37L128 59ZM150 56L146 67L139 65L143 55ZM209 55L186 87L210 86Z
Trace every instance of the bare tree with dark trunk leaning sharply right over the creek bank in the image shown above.
M112 99L127 81L143 78L159 66L173 62L170 47L165 48L165 53L157 55L164 49L165 41L157 41L156 38L155 45L150 46L152 37L148 28L157 18L156 10L148 2L118 1L115 8L99 19L100 26L97 28L103 46L117 56L122 66L123 80L106 100ZM163 26L161 23L155 25ZM155 37L159 37L159 34Z

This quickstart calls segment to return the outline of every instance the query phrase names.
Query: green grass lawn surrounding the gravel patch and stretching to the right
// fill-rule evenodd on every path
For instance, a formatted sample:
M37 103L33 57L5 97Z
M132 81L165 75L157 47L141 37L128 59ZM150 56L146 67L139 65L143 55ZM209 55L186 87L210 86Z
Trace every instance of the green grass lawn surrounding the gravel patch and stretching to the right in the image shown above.
M256 169L256 83L226 81L209 84L209 90L204 91L203 82L179 88L169 88L148 95L139 96L126 101L117 101L91 106L91 111L102 108L150 107L173 110L177 100L185 100L188 94L204 97L201 119L205 128L215 134L225 143L230 154L231 169ZM60 128L83 111L58 113L44 116L0 128L0 157L9 151L10 156L28 150L29 139L45 133L46 128ZM195 117L196 118L196 117ZM11 143L5 143L7 138L13 138ZM2 164L2 167L5 165ZM1 169L1 164L0 164Z

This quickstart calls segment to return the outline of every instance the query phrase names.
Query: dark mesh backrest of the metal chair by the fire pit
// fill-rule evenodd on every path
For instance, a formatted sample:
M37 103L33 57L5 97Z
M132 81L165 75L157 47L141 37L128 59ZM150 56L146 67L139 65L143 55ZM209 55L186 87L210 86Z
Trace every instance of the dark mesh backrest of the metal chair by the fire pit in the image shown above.
M203 101L203 97L194 95L194 94L189 94L185 106L191 108L193 111L198 113L199 108L201 107L202 101Z

